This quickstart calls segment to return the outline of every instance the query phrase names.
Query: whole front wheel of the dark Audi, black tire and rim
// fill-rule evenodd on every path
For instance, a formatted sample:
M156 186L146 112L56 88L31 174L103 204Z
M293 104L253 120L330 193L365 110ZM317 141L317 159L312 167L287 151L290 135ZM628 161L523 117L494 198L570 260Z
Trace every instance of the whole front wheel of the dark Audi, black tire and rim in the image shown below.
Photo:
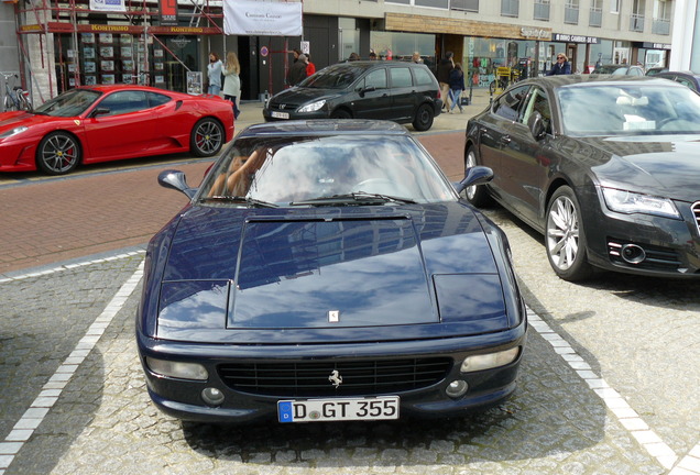
M586 280L593 274L586 251L581 206L568 186L558 188L547 206L545 246L549 265L564 280Z

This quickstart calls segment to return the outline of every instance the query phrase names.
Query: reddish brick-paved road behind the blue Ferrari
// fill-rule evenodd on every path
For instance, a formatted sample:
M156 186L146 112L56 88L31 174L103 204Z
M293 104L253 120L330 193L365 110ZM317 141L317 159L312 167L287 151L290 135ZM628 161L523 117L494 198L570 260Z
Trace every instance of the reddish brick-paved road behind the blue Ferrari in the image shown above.
M486 103L482 92L463 114L441 114L430 131L418 134L450 179L463 174L467 120ZM237 129L260 121L262 104L245 103ZM62 178L45 178L39 173L0 174L0 277L145 245L187 203L184 195L157 185L158 173L177 168L197 185L211 163L184 154L167 158L177 163L162 158L128 161L109 164L108 168L84 167L80 174ZM142 162L147 165L139 167Z

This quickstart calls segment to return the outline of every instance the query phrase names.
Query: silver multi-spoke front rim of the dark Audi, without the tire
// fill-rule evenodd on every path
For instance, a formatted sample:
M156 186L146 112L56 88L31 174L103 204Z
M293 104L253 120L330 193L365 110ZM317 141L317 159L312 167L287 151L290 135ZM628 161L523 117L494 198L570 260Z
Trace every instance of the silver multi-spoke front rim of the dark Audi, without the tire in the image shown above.
M567 270L579 253L579 216L573 201L560 196L547 216L547 252L551 263Z

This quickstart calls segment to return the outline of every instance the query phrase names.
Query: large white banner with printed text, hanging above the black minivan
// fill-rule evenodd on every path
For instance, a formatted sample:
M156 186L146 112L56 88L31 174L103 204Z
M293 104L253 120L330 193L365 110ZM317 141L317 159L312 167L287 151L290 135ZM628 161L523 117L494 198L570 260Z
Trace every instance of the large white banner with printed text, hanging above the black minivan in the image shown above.
M302 3L223 0L223 33L302 36Z

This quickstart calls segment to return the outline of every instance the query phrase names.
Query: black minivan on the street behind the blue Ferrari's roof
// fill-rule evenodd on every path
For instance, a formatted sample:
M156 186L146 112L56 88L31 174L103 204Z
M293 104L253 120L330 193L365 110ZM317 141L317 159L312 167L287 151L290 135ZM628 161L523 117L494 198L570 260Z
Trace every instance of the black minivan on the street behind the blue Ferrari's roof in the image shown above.
M362 60L328 66L274 95L265 121L385 119L427 131L442 109L437 79L424 64Z

